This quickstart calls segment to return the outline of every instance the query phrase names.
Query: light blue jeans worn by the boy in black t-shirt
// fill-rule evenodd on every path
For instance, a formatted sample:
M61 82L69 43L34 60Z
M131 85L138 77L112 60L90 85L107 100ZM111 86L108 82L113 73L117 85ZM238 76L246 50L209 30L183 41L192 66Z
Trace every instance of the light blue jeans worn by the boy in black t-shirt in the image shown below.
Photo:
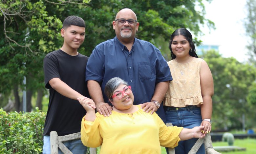
M86 154L87 147L83 145L80 139L66 141L63 144L73 153L73 154ZM58 150L59 154L63 154L61 150ZM51 154L51 144L50 144L50 136L44 136L44 146L43 146L43 154Z

